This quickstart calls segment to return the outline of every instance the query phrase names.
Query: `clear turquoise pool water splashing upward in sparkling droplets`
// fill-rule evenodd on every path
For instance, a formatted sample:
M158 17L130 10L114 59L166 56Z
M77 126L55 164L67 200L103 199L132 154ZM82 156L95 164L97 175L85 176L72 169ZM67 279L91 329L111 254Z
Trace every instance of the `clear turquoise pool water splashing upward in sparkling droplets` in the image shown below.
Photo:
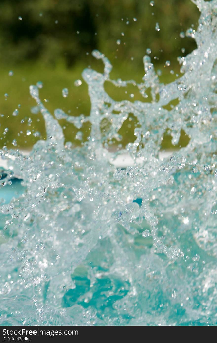
M104 73L82 75L89 117L57 109L54 119L30 87L47 139L29 156L1 150L9 166L1 187L18 185L1 205L1 325L217 324L217 1L193 2L201 11L197 49L180 59L183 76L160 84L143 58L137 87L152 102L111 99L105 81L136 82L111 80L99 51ZM132 113L135 141L110 152L107 142ZM90 122L88 142L64 144L59 119L78 129ZM181 130L190 142L162 160L166 129L174 145ZM124 154L131 162L118 168Z

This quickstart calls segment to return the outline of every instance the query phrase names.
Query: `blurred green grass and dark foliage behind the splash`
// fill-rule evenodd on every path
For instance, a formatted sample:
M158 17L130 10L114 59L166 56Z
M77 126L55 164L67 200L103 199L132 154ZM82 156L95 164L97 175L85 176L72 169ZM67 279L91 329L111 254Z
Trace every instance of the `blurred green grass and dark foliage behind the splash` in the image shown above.
M87 86L82 82L75 87L74 81L81 79L81 72L88 65L103 70L101 62L91 56L93 49L102 51L111 60L113 78L141 81L142 57L150 48L156 70L162 70L160 80L165 83L175 80L179 73L177 56L186 55L196 47L193 39L182 39L179 34L191 25L196 27L199 14L190 0L155 0L153 7L149 0L1 0L0 145L10 146L16 139L18 147L28 148L36 138L33 134L27 136L26 130L40 131L41 137L45 137L43 119L40 114L31 113L35 104L28 94L28 86L37 81L44 83L40 94L47 99L51 113L58 107L72 115L88 115ZM160 31L155 30L157 22ZM121 40L120 45L117 40ZM166 60L171 61L170 67L165 68ZM171 69L174 75L170 74ZM9 70L13 70L13 76L8 75ZM69 89L67 98L61 95L64 87ZM107 91L116 99L129 99L132 92L134 100L141 99L131 89L126 94L123 89L107 85ZM5 93L9 95L7 100ZM19 115L13 117L18 104ZM64 121L61 125L66 140L79 144L75 139L77 129ZM6 127L9 131L3 135ZM84 140L89 129L88 125L83 128ZM124 131L126 144L133 132L130 128ZM186 142L183 134L180 144ZM168 136L163 147L169 146Z

